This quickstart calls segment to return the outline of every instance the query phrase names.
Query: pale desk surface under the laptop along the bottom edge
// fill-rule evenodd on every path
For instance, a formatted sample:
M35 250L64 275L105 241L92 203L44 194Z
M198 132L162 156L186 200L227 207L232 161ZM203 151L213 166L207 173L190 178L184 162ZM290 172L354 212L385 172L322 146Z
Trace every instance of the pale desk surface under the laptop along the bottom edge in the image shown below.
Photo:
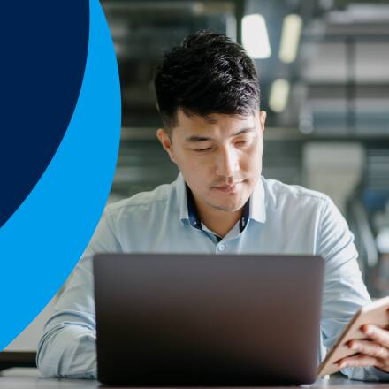
M12 369L13 370L13 369ZM346 389L347 387L362 386L360 389L389 389L389 383L369 383L361 381L351 381L342 376L333 376L330 379L317 379L313 385L302 385L301 387L314 388L329 388L329 389ZM0 389L92 389L105 387L96 380L89 379L74 379L74 378L42 378L37 369L15 369L4 372L4 376L0 375ZM280 387L280 386L278 386ZM277 389L277 386L272 386L268 389ZM291 389L294 386L285 386L286 389ZM118 389L118 387L116 387ZM164 388L166 389L166 388Z

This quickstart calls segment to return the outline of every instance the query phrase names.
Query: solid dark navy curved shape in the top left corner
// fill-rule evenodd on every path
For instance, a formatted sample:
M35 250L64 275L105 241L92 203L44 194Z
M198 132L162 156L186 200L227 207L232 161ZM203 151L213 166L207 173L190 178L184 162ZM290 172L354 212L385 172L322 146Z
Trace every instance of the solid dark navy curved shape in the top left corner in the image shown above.
M88 56L88 0L2 2L0 34L1 227L69 126Z

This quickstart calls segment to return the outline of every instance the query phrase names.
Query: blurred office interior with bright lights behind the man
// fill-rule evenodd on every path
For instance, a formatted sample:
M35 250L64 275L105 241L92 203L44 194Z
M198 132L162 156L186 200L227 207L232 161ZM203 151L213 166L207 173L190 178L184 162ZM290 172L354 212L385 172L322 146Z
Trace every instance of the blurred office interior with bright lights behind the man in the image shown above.
M187 34L213 29L253 57L268 112L263 175L330 195L355 233L373 297L389 294L389 2L102 0L123 123L110 202L178 174L156 141L153 69ZM41 317L9 350L36 348Z

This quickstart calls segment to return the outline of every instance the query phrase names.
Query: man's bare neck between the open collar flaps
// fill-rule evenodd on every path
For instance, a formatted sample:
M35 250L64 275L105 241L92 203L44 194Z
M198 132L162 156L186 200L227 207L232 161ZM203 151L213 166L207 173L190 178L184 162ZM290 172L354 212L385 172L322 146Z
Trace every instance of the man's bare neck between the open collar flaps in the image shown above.
M195 200L197 214L200 220L207 228L224 238L225 235L240 220L242 210L226 212L225 210L214 210L204 206L201 202Z

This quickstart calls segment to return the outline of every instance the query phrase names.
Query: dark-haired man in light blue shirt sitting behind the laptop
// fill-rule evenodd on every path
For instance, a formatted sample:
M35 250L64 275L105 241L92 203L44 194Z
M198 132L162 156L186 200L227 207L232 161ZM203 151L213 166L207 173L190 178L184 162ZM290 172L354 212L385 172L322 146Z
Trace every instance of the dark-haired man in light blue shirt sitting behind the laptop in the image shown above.
M322 255L322 359L370 297L353 235L332 201L261 176L266 113L253 62L224 35L200 32L165 55L155 86L164 123L156 134L179 178L104 211L45 326L37 355L42 373L96 377L91 258L97 252ZM388 380L388 332L368 328L372 341L351 343L361 354L342 361L343 371Z

